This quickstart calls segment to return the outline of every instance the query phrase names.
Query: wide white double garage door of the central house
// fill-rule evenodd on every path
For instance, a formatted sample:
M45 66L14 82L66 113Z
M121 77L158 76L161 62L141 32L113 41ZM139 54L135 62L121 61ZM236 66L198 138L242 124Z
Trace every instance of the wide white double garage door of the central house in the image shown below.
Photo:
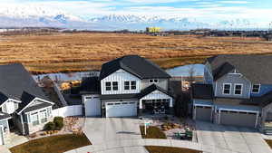
M106 117L131 117L137 116L137 102L107 102Z

